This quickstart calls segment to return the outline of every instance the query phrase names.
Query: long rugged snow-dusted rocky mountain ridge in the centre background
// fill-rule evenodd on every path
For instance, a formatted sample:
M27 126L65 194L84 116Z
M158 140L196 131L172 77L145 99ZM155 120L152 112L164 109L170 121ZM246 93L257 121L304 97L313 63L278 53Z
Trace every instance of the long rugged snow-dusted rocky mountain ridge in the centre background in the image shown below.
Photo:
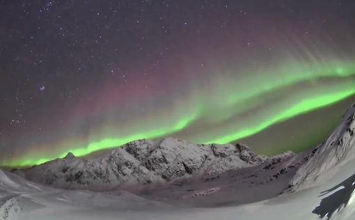
M68 189L85 189L127 183L139 185L173 182L194 176L218 175L239 168L258 166L268 159L237 144L194 144L166 138L127 143L95 159L71 153L15 173L27 180Z

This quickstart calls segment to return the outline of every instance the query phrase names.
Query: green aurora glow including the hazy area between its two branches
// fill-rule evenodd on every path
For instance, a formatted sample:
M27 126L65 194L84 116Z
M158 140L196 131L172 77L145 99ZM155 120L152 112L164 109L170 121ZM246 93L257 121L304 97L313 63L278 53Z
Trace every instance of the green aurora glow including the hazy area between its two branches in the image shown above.
M242 77L238 79L237 83L233 80L225 80L223 82L228 81L229 85L228 83L226 86L223 84L217 85L216 89L209 91L208 97L204 97L205 100L196 102L197 104L190 107L184 116L175 118L166 125L158 124L158 129L146 129L145 132L136 132L124 136L108 136L107 138L98 139L98 141L91 141L87 146L72 148L70 152L73 152L76 156L84 156L97 150L122 146L136 139L156 139L177 132L184 132L189 127L194 127L198 120L203 120L203 123L209 125L211 129L204 134L191 136L191 141L196 143L229 143L256 134L271 125L300 114L329 106L355 94L354 62L318 60L315 62L317 65L301 65L301 63L298 63L299 65L288 65L288 68L286 68L287 65L284 65L276 70L253 70L259 72L259 74ZM332 83L327 88L322 88L322 84L317 84L317 81L326 78L339 79L339 81L337 80L336 83ZM266 107L265 111L259 109L259 113L250 121L228 125L228 120L238 116L239 113L248 111L248 106L251 109L255 109L267 102L267 100L260 100L262 95L266 93L277 94L280 93L282 88L292 87L304 81L313 81L316 86L303 93L296 90L297 93L286 96L285 100L287 102L285 101L283 104ZM258 82L258 84L255 84L255 82ZM319 85L321 89L319 89ZM214 101L218 103L215 104ZM245 104L247 101L251 101L251 104ZM253 105L255 106L253 107ZM219 111L223 113L222 116L216 116ZM226 122L227 129L214 131L214 123L221 124ZM68 144L68 146L70 145ZM68 150L63 150L63 148L61 150L61 152L52 152L52 154L47 153L47 157L42 157L40 154L28 154L13 160L3 160L0 165L21 167L42 164L58 157L64 157Z

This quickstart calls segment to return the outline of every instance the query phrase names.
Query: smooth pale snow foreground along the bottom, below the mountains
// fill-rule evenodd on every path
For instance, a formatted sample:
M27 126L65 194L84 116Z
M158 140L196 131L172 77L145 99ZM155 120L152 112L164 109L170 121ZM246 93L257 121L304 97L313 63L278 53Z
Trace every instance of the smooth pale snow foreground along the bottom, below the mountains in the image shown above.
M354 174L355 162L342 165L341 172L333 173L333 178L316 187L303 189L292 194L283 194L276 198L258 203L229 207L188 208L173 207L155 201L149 201L124 191L93 192L82 190L50 189L46 191L22 191L17 194L16 202L0 197L0 219L26 220L252 220L252 219L319 219L313 211L325 196L322 191L337 186L339 182ZM330 171L330 173L332 173ZM3 176L0 178L0 182ZM24 189L24 188L22 188ZM19 190L17 190L19 191ZM10 191L7 192L10 194ZM250 191L239 194L245 196ZM212 199L212 198L206 198ZM332 214L333 220L352 219L355 214L354 195L347 206ZM12 205L15 204L15 205ZM4 208L5 207L5 208ZM13 207L13 208L12 208ZM3 212L3 210L10 210Z

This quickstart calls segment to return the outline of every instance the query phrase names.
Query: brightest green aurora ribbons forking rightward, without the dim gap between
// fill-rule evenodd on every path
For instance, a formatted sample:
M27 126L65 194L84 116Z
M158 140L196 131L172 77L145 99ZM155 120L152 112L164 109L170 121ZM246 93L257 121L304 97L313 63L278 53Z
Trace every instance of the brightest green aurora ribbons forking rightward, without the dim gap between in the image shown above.
M326 62L324 61L322 63ZM284 68L281 68L281 70L285 71ZM269 81L269 83L267 80L265 80L265 86L260 85L260 88L257 88L258 86L251 87L250 91L246 91L244 93L237 93L237 91L230 91L228 93L228 91L223 90L221 93L220 91L215 91L217 94L221 93L218 94L219 97L225 97L222 106L224 105L223 107L227 109L227 111L230 111L230 113L227 114L228 116L221 117L220 120L228 120L228 118L232 117L233 107L238 104L243 105L243 102L245 100L250 98L253 99L253 97L258 97L259 95L266 92L270 93L274 91L275 93L277 93L278 89L283 86L292 86L301 81L314 81L317 79L322 79L324 77L337 77L344 79L349 78L349 80L346 80L347 86L340 86L335 91L319 93L315 96L303 95L303 97L299 97L299 99L292 100L292 103L290 103L290 105L288 105L286 109L276 109L273 114L264 118L261 117L260 120L258 120L253 125L244 126L240 129L229 129L228 132L225 132L225 134L219 136L203 137L202 139L198 137L193 137L191 138L191 141L194 141L196 143L228 143L231 141L237 141L238 139L242 139L246 136L256 134L269 126L274 125L275 123L280 123L281 121L287 120L303 113L307 113L308 111L313 111L315 109L326 107L355 94L355 86L353 84L355 67L352 62L329 62L328 64L324 64L323 68L319 68L319 66L317 66L316 68L312 68L303 65L303 68L295 68L294 70L292 70L292 72L295 72L297 70L304 71L305 73L299 74L296 77L288 77L287 74L283 73L283 76L285 77L277 77L278 73L276 72L274 75L276 76L276 78L274 79L277 80L271 80ZM268 71L271 72L272 70ZM312 71L313 74L311 73ZM247 87L250 86L253 81L260 81L260 79L255 80L253 79L253 77L250 80L251 81L249 81L247 84L245 84L245 81L242 81L240 85L242 87L243 85ZM74 147L70 150L63 150L62 152L54 152L52 153L52 155L48 154L49 156L47 157L42 157L42 155L36 154L24 155L23 157L17 157L17 159L13 159L10 161L3 160L1 162L1 166L32 166L36 164L42 164L43 162L48 162L58 157L64 157L68 151L73 152L76 156L84 156L97 150L122 146L123 144L128 143L130 141L134 141L136 139L156 139L159 137L168 136L174 134L175 132L180 132L184 129L187 129L191 124L194 124L196 120L200 118L212 117L213 114L215 114L216 110L219 110L219 108L223 108L218 105L216 107L208 107L208 104L206 104L208 103L208 101L210 100L205 100L205 102L203 102L202 104L199 103L198 107L194 106L194 109L188 111L189 113L187 113L186 116L182 116L178 119L175 118L175 120L173 120L173 123L171 123L170 126L165 125L159 128L152 127L152 129L148 129L145 132L136 132L135 134L129 134L125 136L108 136L106 138L99 139L98 141L91 141L86 146ZM238 112L238 109L235 109L235 112ZM70 146L69 143L68 146Z

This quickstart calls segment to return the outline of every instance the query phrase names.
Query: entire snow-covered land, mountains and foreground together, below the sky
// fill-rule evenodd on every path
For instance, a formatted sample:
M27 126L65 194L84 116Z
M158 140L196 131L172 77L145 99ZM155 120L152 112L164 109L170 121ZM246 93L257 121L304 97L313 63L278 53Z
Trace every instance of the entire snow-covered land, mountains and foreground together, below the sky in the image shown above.
M354 120L355 104L324 143L299 154L169 138L14 171L28 180L0 170L0 219L352 219ZM289 183L292 193L279 195ZM125 185L159 187L132 194Z

